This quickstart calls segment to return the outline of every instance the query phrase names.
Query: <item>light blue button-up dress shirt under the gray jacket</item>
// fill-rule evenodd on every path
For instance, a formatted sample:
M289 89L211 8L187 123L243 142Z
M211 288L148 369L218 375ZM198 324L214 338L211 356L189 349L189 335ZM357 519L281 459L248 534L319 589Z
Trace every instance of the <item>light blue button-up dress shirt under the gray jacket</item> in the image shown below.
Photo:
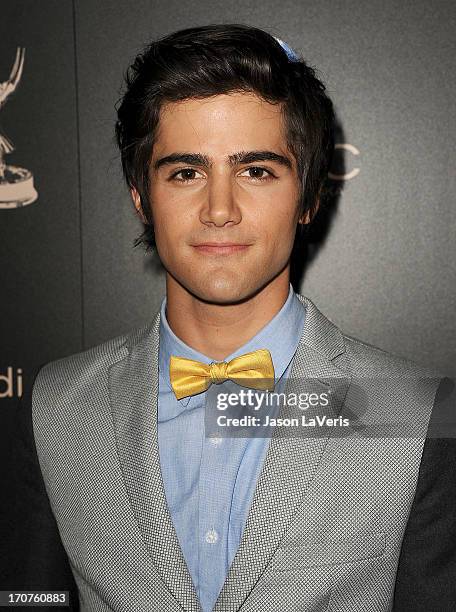
M305 312L290 283L288 298L280 311L225 361L257 349L268 349L274 364L274 391L280 391L291 370ZM239 547L270 437L205 436L208 392L177 400L169 379L169 359L177 355L206 364L214 360L174 334L166 319L166 297L160 314L161 471L168 507L201 608L203 612L210 612Z

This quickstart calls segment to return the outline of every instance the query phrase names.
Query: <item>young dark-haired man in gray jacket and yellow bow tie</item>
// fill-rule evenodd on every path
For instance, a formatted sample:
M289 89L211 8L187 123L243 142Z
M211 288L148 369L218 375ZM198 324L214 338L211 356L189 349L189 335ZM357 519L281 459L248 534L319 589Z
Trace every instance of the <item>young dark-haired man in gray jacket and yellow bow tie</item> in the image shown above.
M323 85L237 25L153 42L127 85L116 133L166 297L145 327L36 377L24 435L44 486L17 581L97 612L454 610L454 445L425 440L447 388L290 284L333 149ZM363 426L412 415L415 433L208 437L216 387L291 380Z

